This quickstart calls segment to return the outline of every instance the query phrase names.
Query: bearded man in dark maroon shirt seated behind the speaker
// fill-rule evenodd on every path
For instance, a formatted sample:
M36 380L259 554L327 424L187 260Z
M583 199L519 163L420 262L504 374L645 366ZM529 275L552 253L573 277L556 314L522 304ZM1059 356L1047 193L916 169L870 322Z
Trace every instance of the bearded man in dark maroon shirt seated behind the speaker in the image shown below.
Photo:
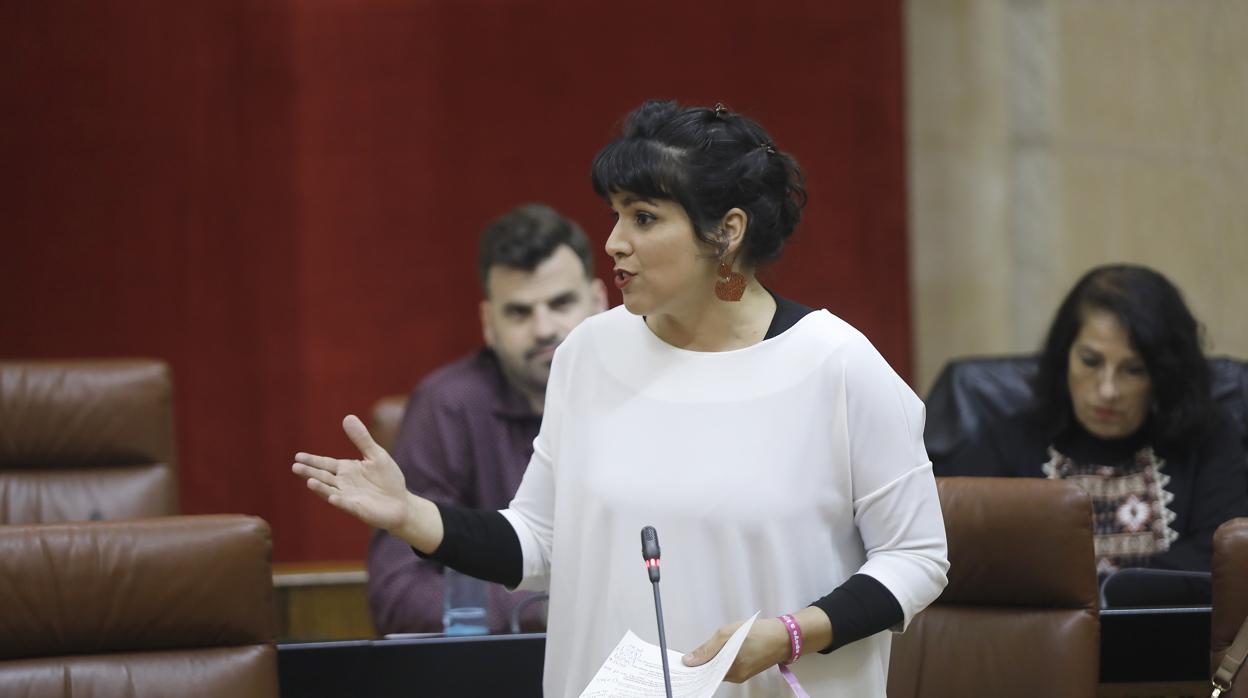
M542 425L550 360L582 320L607 307L577 224L527 204L482 231L477 268L485 346L438 368L412 392L393 456L407 487L434 502L505 508L520 486ZM532 593L490 584L490 632L507 632ZM442 566L378 531L368 549L368 597L381 633L441 632ZM524 629L544 607L525 604Z

